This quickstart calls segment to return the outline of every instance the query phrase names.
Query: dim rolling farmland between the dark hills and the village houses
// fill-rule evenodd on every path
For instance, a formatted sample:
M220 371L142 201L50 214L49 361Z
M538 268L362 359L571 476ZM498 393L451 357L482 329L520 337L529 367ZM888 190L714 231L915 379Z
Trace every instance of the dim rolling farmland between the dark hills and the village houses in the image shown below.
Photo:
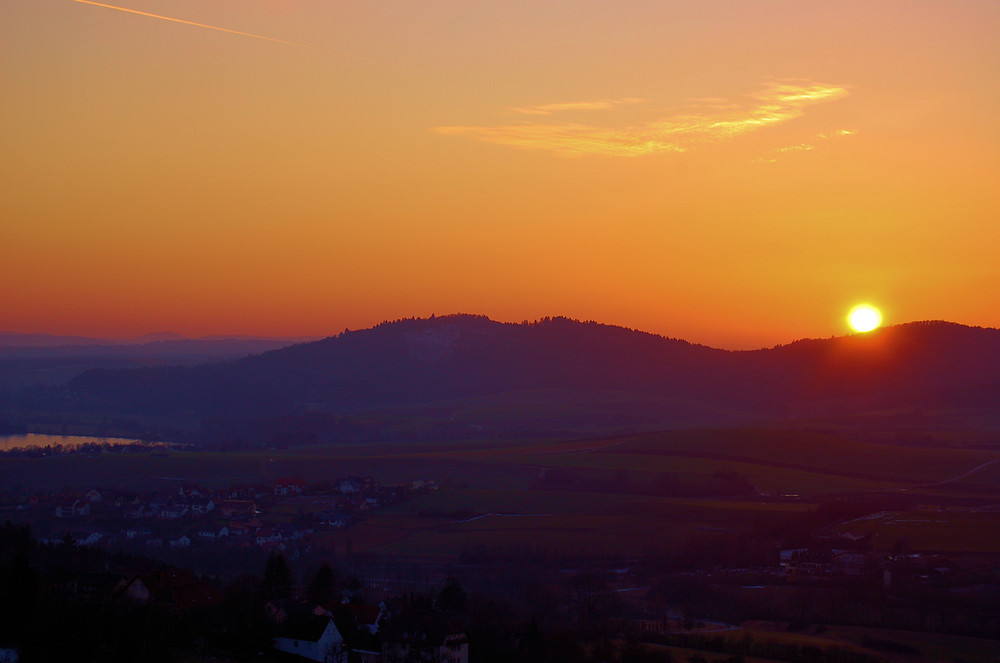
M95 486L159 490L180 481L268 484L280 477L316 482L370 475L382 484L405 485L433 480L442 490L374 511L330 533L326 542L340 551L438 560L477 546L585 556L676 553L698 536L781 528L840 496L874 500L892 493L919 495L908 499L930 506L856 520L840 531L872 534L877 549L904 540L912 549L991 553L1000 552L1000 512L989 510L991 502L946 505L982 496L979 484L1000 478L998 459L1000 452L984 449L902 448L811 431L722 429L165 457L4 457L0 483L24 494ZM546 484L553 473L572 480ZM726 477L745 483L727 484ZM977 483L970 487L973 479ZM663 485L674 492L657 492ZM713 493L720 486L730 493Z

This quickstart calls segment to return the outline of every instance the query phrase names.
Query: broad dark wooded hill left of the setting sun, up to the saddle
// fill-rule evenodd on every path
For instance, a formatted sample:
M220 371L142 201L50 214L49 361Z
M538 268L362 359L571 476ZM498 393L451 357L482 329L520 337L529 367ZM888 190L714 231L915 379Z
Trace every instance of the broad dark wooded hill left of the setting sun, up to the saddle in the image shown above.
M236 362L91 371L69 385L85 407L206 413L336 411L516 389L711 390L729 353L565 318L528 324L456 315L383 323Z

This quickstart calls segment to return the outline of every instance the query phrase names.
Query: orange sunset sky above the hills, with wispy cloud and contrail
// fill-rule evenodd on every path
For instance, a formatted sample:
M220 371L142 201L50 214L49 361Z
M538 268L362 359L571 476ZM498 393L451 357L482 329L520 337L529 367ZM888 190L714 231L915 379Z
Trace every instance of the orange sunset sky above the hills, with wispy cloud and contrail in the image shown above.
M0 330L997 327L998 33L994 0L0 0Z

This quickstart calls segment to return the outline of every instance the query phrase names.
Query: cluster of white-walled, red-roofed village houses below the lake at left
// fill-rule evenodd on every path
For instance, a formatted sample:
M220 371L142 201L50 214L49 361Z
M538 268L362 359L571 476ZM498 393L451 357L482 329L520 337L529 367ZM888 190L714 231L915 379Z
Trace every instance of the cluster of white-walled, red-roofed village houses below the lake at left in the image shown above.
M15 507L30 519L40 543L71 543L151 554L156 549L246 549L308 552L330 532L434 481L380 485L370 476L307 484L285 477L270 484L206 488L180 481L176 490L129 492L90 488L78 493L35 493Z

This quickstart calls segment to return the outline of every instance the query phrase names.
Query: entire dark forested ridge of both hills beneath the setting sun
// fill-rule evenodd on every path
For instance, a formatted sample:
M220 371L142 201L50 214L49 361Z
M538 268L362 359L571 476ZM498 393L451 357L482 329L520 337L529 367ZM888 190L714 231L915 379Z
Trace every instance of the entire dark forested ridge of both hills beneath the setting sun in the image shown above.
M33 398L35 408L204 418L438 404L469 421L468 412L493 422L531 412L552 424L558 410L559 425L574 417L700 425L901 410L996 414L1000 330L915 322L726 351L566 318L510 324L454 315L200 366L90 370Z

